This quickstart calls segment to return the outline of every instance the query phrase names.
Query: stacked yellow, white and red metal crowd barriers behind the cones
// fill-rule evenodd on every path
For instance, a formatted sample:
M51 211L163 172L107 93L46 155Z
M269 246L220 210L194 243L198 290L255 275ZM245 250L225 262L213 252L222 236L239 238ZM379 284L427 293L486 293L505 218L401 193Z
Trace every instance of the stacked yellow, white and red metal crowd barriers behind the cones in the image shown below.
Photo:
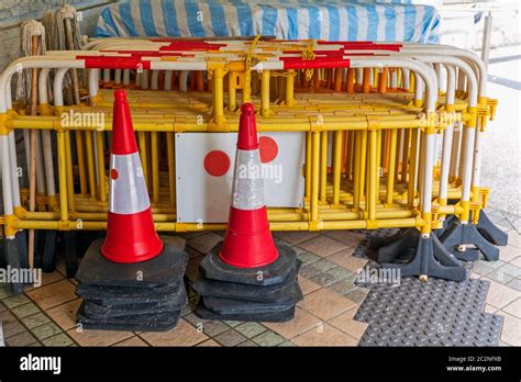
M27 68L40 69L37 116L24 115L10 93L14 72ZM88 79L86 101L75 106L64 105L62 94L70 69L86 70ZM47 99L52 71L54 105ZM21 229L68 236L106 229L111 89L125 88L156 229L225 227L176 218L174 134L235 132L240 104L253 102L260 132L306 134L302 207L268 209L271 229L412 228L377 244L383 258L393 260L400 245L421 248L426 240L423 248L435 249L414 258L432 257L450 270L434 271L432 263L432 271L425 266L404 273L462 280L456 257L476 256L465 245L495 260L494 245L507 239L483 211L481 142L497 103L487 98L486 81L474 54L422 44L106 38L81 52L21 58L0 77L4 235L9 241ZM70 111L81 121L66 126L63 113ZM104 116L102 126L86 121L92 112ZM13 131L31 128L42 133L45 165L37 175L45 184L37 212L26 210L14 171ZM421 240L411 244L411 235Z

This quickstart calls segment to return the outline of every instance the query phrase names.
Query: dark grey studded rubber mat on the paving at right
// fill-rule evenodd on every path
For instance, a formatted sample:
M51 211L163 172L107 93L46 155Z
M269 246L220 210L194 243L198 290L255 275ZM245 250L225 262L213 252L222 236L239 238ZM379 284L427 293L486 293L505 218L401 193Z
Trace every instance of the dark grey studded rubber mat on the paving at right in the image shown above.
M362 232L364 233L364 232ZM367 233L353 256L369 258L369 269L378 268L369 248L372 235L388 237L396 229ZM463 262L472 270L473 262ZM354 319L368 323L359 346L498 346L502 317L484 313L488 281L456 282L415 277L395 282L366 282L369 293Z

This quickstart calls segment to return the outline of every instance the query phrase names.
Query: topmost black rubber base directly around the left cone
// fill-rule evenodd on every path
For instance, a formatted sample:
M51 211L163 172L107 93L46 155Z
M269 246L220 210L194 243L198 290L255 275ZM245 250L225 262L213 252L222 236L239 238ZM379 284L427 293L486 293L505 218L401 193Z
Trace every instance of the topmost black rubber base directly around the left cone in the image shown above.
M167 286L180 280L185 273L188 255L185 239L160 236L165 244L162 254L151 260L119 263L101 255L103 238L92 241L85 254L76 280L85 285L111 286Z

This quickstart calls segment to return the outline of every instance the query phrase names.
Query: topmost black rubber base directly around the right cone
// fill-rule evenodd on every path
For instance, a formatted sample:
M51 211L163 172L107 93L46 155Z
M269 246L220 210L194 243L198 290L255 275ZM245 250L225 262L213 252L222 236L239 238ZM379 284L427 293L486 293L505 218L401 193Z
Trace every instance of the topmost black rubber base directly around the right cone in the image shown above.
M279 256L274 262L258 268L237 268L221 260L219 252L222 243L218 244L204 257L199 266L201 274L211 280L237 282L250 285L273 285L284 282L297 259L295 249L276 244Z

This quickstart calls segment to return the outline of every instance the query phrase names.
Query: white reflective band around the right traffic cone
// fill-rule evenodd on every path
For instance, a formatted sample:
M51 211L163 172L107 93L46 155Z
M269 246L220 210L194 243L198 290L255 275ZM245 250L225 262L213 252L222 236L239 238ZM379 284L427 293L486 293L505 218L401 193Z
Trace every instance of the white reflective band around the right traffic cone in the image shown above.
M265 205L263 166L258 149L237 149L232 206L237 210L258 210Z

